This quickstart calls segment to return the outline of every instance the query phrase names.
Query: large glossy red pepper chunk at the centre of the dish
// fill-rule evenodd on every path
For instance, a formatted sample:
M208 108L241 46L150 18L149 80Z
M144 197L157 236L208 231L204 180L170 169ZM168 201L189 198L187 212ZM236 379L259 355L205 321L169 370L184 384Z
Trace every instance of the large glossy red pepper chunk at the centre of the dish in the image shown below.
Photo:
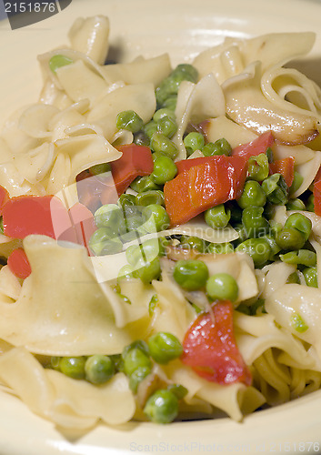
M243 157L202 157L176 163L179 174L166 182L164 196L171 225L186 223L207 208L236 199L246 181Z

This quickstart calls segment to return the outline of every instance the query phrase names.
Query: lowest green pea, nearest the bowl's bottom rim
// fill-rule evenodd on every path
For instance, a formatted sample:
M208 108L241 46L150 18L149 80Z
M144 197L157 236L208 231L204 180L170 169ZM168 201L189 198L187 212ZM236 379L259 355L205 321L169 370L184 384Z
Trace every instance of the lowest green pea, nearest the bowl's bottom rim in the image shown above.
M144 412L155 423L170 423L178 415L178 399L170 390L156 390L147 399Z

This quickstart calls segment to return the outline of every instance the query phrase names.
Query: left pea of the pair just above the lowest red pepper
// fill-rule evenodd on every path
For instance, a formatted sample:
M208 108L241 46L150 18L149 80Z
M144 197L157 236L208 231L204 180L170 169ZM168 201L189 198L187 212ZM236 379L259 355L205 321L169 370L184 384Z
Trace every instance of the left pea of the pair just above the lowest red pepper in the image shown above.
M201 260L178 260L174 268L173 277L182 288L197 290L206 285L208 268L206 263Z

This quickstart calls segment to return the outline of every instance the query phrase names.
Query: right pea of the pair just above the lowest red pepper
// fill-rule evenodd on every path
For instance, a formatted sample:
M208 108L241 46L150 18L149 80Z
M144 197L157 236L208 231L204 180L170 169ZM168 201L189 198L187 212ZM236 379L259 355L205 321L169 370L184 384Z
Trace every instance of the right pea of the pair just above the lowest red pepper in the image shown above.
M235 302L238 297L238 285L232 275L216 273L207 279L206 292L210 298Z

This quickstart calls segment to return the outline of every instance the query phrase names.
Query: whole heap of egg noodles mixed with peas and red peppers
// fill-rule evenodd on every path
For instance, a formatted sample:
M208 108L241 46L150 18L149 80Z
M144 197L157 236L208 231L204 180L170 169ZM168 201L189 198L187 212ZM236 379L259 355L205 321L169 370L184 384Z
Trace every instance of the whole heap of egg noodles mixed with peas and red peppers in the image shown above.
M222 411L242 420L319 389L321 90L285 66L314 34L226 38L176 70L168 55L105 65L108 34L104 16L77 19L70 47L38 56L39 100L0 137L1 389L59 428L84 430ZM175 125L166 141L162 109ZM117 181L126 154L136 174ZM118 211L126 228L106 239ZM152 268L133 259L142 250ZM211 349L217 370L206 364ZM95 359L109 362L105 380ZM169 417L155 411L155 393L171 397Z

